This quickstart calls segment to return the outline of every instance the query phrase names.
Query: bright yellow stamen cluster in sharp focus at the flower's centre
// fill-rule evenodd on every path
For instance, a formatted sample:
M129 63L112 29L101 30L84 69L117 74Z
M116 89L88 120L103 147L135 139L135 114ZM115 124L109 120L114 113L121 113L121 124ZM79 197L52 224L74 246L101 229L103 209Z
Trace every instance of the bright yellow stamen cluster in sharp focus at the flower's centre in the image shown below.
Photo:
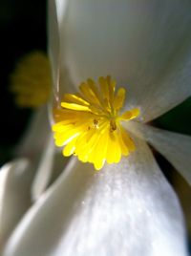
M53 112L55 144L65 146L63 155L92 162L96 170L105 161L118 162L121 156L135 150L133 140L120 122L139 115L138 109L119 114L125 89L116 92L116 81L110 76L100 77L98 82L99 89L92 79L81 83L80 93L63 96L62 108Z

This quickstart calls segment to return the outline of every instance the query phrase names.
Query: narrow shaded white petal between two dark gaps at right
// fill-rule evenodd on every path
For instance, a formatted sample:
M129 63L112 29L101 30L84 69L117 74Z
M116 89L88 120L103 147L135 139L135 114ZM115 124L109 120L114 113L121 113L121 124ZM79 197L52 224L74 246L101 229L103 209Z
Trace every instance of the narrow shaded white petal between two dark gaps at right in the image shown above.
M183 178L191 184L191 137L160 130L150 125L137 124L133 126L131 131L136 131L136 129L138 129L139 132L143 134L144 139L169 160Z

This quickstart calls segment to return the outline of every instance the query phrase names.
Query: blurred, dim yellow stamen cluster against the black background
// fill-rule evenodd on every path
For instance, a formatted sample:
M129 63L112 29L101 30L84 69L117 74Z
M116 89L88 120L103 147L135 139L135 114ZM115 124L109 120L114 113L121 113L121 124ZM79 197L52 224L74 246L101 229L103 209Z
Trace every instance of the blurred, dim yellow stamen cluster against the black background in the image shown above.
M51 69L48 57L41 52L24 56L11 75L11 92L20 107L38 107L51 95Z

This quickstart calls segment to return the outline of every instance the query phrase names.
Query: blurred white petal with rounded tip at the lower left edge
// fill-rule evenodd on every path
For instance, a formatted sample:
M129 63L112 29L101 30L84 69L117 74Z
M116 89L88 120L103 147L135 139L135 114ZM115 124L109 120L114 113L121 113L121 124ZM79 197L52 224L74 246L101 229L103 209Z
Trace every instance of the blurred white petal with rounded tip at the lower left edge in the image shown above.
M13 160L0 170L0 251L31 205L31 181L32 172L25 159Z

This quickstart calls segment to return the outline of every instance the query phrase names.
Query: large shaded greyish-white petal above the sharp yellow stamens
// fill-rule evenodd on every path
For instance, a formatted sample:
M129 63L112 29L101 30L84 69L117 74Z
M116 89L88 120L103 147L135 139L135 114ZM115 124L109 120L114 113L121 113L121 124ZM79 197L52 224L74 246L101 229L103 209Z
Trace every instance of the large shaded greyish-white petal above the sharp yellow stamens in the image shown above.
M190 12L188 0L71 0L62 66L76 86L114 76L127 87L126 108L139 106L143 121L158 117L191 95Z

